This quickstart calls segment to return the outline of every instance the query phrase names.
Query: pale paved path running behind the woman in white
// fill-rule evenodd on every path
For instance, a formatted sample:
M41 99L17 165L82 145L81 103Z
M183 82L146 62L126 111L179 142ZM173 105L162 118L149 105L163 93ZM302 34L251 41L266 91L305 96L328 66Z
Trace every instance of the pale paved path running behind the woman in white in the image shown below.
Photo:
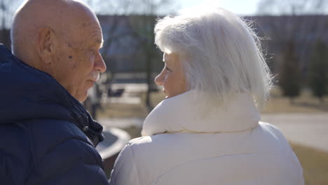
M142 118L108 119L100 118L100 123L109 127L142 127ZM261 121L277 126L285 137L295 144L314 147L328 152L327 114L263 114Z

